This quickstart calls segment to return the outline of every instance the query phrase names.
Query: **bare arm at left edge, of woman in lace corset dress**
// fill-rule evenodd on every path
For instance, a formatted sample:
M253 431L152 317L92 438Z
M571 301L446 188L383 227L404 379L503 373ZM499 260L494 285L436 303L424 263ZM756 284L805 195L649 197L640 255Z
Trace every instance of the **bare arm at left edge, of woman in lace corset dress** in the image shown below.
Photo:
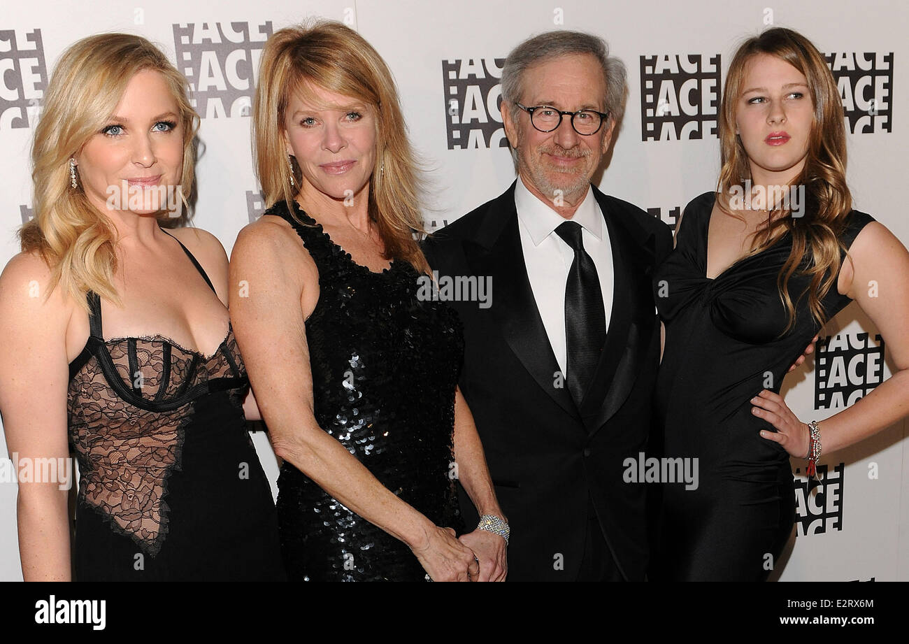
M6 447L32 466L16 498L19 557L26 581L70 579L67 490L73 482L66 435L71 311L60 289L45 301L50 271L21 253L0 275L0 412ZM42 460L38 460L42 459ZM62 471L61 471L62 470ZM69 480L64 475L69 473Z

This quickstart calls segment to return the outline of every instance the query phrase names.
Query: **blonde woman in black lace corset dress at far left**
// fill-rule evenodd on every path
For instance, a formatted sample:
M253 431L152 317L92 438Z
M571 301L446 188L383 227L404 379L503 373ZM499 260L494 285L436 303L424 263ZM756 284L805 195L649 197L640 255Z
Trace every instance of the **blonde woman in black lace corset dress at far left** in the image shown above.
M0 277L0 409L11 453L64 463L68 443L80 480L72 547L64 481L20 483L26 580L68 580L71 558L80 581L285 578L224 248L160 226L193 186L185 87L124 34L70 47L47 87L35 218Z

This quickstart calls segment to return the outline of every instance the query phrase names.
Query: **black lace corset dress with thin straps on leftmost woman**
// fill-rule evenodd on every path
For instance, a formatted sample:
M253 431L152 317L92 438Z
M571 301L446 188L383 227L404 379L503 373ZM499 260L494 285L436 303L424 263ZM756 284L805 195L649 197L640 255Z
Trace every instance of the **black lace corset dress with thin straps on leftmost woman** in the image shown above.
M162 336L105 340L100 298L88 304L91 335L68 392L75 579L284 579L233 329L213 356Z

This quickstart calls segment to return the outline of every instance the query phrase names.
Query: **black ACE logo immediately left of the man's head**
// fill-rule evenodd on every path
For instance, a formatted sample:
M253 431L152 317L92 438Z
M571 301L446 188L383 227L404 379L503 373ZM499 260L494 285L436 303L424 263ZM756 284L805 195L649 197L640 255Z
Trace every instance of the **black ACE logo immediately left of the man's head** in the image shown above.
M442 61L448 149L507 147L502 114L504 58Z

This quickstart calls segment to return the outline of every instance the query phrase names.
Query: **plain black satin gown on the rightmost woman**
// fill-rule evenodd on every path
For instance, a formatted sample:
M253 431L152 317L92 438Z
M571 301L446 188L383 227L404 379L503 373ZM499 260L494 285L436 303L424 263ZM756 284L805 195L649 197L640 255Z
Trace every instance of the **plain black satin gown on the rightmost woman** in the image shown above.
M698 486L663 486L662 520L651 579L764 580L794 525L789 456L761 438L773 426L752 413L764 388L779 393L787 369L818 331L799 300L783 337L786 311L776 277L792 249L789 233L772 247L706 275L713 192L685 207L676 247L654 277L654 301L666 328L656 409L664 456L697 458ZM874 219L852 211L841 238L848 248ZM841 253L844 257L844 253ZM789 283L795 303L808 282ZM851 301L834 287L822 300L829 317Z

